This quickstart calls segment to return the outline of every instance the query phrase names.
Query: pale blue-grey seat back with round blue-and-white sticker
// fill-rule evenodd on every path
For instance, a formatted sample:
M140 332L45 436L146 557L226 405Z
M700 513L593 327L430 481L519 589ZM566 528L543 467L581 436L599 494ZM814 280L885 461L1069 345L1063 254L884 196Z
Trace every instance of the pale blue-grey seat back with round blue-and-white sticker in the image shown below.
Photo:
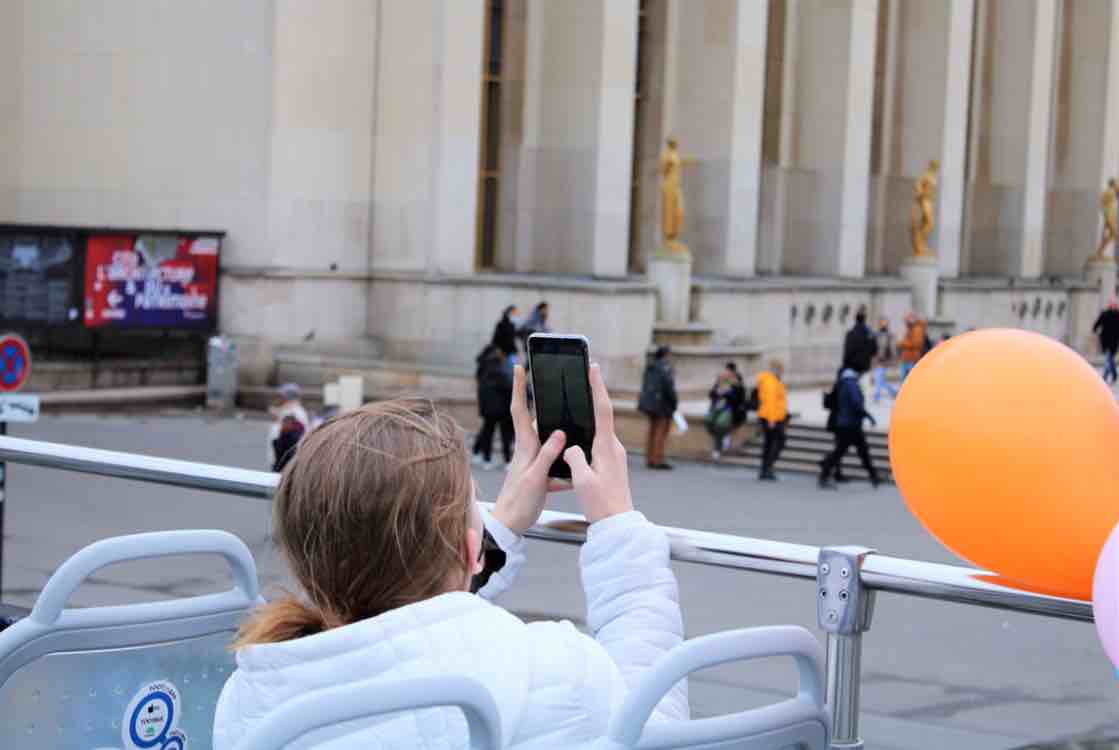
M117 562L216 554L234 588L216 594L66 609ZM173 531L96 542L63 563L31 613L0 632L0 748L208 750L234 663L228 646L262 603L256 565L236 536Z

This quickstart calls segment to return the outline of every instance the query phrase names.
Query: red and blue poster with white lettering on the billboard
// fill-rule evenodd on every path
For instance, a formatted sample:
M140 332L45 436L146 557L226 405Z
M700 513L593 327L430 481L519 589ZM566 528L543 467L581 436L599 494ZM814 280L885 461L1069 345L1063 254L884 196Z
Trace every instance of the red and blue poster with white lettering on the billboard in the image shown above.
M87 328L214 328L218 237L94 234L86 244Z

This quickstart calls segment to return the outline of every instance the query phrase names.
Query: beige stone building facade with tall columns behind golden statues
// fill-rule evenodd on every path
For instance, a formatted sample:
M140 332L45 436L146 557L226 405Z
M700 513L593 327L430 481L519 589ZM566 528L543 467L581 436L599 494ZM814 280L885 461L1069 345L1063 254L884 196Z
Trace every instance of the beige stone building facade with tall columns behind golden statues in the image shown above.
M930 159L943 328L1087 350L1113 284L1083 268L1116 0L8 0L0 102L0 221L227 232L251 383L461 386L540 299L630 386L658 336L697 382L830 373L858 306L914 304ZM656 331L668 134L695 275L690 327Z

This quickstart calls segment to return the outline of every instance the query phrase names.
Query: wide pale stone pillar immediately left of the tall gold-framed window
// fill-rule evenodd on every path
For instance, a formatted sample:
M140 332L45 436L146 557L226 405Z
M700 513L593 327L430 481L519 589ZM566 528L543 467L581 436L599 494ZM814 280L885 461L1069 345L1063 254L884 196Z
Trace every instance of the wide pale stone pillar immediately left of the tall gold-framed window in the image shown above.
M372 265L471 273L485 1L378 4Z

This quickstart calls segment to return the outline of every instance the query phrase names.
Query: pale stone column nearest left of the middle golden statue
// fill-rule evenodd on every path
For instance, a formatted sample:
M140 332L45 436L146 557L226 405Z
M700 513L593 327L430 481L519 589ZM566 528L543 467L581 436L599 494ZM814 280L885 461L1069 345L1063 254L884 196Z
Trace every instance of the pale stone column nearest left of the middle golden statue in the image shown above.
M836 272L858 278L866 269L866 223L874 119L874 59L878 0L852 0L847 64L847 126Z

